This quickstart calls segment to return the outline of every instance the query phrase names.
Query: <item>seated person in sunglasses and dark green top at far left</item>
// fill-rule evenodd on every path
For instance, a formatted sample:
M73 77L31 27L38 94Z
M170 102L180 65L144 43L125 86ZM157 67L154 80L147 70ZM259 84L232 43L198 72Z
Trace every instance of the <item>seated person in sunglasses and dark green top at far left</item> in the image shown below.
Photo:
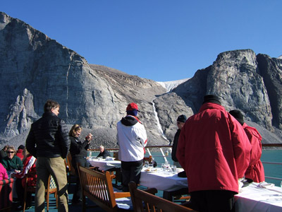
M16 151L13 146L8 146L6 150L7 156L2 158L2 165L6 168L8 176L11 176L12 173L18 173L23 170L23 162L16 156Z

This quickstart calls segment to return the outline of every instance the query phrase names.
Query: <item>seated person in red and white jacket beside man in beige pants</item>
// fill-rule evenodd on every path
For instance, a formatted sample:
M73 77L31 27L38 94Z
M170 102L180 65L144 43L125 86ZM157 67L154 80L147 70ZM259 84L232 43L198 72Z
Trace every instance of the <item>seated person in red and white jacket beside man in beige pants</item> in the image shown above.
M12 174L12 177L16 177L16 192L18 194L18 201L20 201L20 206L18 206L18 209L23 209L23 194L25 192L25 175L30 172L36 172L36 158L33 157L26 148L23 151L24 159L23 159L23 171ZM27 178L27 186L29 187L35 187L36 186L36 179L37 175L30 175ZM31 193L27 192L27 199L26 199L26 206L25 209L30 208L31 206Z

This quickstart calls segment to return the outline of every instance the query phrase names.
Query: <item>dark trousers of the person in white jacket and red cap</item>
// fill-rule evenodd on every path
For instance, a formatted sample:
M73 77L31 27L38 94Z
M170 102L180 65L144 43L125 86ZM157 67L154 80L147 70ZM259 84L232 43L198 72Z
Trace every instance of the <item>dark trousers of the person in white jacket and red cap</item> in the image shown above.
M123 192L129 192L128 183L130 181L139 183L141 177L141 170L143 166L143 160L125 162L121 161L121 176Z

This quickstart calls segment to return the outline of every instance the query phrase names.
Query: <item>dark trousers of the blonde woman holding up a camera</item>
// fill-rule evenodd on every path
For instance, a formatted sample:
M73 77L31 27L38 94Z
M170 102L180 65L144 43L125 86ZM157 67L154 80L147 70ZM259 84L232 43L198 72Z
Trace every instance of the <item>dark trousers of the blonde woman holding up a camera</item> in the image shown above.
M81 185L80 185L80 179L79 179L79 175L78 175L78 166L77 163L80 164L80 166L82 167L89 167L89 163L86 160L85 157L75 157L72 158L71 161L73 167L75 168L75 174L76 174L76 184L75 184L75 191L73 192L73 203L77 203L78 201L82 200L82 189L81 189Z

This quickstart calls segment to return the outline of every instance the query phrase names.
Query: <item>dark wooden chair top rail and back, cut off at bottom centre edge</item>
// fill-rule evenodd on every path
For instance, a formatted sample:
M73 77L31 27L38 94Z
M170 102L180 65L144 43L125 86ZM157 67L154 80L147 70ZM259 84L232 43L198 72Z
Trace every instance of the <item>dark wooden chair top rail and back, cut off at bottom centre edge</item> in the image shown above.
M157 189L156 189L157 190ZM129 191L131 195L131 201L133 202L133 209L135 212L187 212L194 211L191 208L187 208L185 206L180 206L178 204L173 203L172 201L168 201L166 199L162 199L159 196L154 196L153 194L149 194L145 191L137 189L137 185L135 182L129 183ZM195 212L195 211L194 211Z

